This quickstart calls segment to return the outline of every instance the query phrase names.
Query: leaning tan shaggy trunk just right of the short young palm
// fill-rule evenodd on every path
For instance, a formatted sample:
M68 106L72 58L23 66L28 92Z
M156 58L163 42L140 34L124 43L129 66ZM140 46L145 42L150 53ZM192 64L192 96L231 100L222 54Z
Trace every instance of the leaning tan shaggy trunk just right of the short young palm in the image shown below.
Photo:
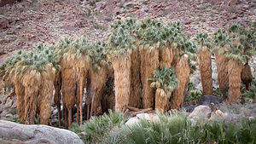
M174 91L171 108L179 109L183 106L184 95L189 84L190 67L188 55L182 55L177 59L175 73L179 83L178 88Z

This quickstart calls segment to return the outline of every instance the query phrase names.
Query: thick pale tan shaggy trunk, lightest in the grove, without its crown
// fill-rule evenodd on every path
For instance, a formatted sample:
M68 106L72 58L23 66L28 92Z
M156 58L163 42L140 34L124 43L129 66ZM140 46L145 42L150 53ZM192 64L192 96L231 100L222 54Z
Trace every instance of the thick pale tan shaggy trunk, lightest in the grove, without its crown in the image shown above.
M115 86L115 111L125 111L130 100L131 57L119 55L113 61Z

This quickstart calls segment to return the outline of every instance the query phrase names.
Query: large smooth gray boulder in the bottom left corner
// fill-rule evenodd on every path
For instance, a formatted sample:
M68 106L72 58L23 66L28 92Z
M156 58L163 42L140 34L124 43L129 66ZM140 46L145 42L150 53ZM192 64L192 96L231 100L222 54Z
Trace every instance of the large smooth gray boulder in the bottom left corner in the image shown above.
M50 127L43 124L25 125L5 120L0 120L0 138L18 139L33 143L32 141L44 140L56 144L82 144L84 143L72 131Z

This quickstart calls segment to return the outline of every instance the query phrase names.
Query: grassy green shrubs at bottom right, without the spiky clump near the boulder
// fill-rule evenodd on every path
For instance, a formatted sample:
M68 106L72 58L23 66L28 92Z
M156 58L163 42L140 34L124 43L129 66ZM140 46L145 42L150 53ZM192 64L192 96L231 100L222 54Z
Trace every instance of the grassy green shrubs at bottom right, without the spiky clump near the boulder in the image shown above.
M192 124L184 113L162 114L160 120L141 120L133 126L123 125L109 133L104 143L253 143L256 120L239 124L212 121Z

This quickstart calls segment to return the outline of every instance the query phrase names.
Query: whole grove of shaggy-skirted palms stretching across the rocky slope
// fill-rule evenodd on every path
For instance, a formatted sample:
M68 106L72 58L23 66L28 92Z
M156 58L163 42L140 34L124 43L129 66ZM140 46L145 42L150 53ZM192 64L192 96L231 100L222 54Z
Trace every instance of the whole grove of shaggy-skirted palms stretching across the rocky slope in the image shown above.
M63 120L68 128L75 106L79 124L106 109L182 107L189 60L198 60L203 94L212 95L212 54L219 88L229 91L224 99L240 102L241 81L247 88L252 81L247 62L255 54L255 36L255 24L248 29L232 25L212 37L198 34L195 45L179 22L127 19L113 23L106 42L65 38L55 46L19 51L3 63L0 74L15 88L21 121L34 124L39 117L40 124L49 124L54 99L59 124Z

